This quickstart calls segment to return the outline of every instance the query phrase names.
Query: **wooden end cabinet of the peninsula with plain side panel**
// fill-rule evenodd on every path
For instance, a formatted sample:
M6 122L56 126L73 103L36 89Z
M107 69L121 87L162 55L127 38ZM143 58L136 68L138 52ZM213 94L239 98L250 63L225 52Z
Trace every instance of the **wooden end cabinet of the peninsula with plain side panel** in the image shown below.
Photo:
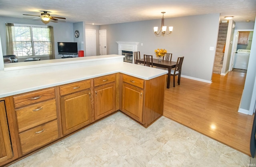
M122 112L148 127L163 115L165 77L151 80L122 75Z

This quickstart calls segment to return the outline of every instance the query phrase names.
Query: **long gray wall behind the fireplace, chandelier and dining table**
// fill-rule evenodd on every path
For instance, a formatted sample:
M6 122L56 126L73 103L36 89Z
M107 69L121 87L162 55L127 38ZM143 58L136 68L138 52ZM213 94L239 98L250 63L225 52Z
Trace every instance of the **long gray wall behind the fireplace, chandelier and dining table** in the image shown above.
M172 60L184 56L182 75L211 82L220 14L206 14L180 18L166 18L165 26L173 26L169 36L157 37L153 27L161 26L161 19L100 26L107 30L107 54L118 54L120 42L139 42L140 54L154 55L164 48L172 53ZM141 46L143 43L143 46ZM210 46L214 47L211 51Z

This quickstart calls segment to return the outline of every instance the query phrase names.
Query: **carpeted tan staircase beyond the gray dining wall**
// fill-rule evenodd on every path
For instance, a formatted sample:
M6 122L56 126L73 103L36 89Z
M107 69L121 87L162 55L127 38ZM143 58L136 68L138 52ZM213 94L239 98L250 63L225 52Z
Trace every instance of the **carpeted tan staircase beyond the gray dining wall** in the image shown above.
M228 23L220 23L217 48L214 58L213 73L221 74L223 58L224 58L224 46L226 43L228 32Z

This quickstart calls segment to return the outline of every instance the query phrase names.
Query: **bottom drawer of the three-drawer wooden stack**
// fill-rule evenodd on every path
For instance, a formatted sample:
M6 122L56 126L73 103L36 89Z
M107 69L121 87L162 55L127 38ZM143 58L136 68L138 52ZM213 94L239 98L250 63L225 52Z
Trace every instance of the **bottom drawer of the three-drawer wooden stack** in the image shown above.
M37 149L58 138L57 120L20 133L22 154Z

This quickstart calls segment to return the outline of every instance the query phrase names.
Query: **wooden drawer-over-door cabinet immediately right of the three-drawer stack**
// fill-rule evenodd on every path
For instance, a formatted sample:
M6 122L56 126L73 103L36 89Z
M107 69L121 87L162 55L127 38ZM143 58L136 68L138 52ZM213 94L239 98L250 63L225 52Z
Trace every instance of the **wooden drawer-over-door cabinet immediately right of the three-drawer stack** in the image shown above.
M60 86L62 132L64 135L76 131L92 121L91 81L70 83Z

